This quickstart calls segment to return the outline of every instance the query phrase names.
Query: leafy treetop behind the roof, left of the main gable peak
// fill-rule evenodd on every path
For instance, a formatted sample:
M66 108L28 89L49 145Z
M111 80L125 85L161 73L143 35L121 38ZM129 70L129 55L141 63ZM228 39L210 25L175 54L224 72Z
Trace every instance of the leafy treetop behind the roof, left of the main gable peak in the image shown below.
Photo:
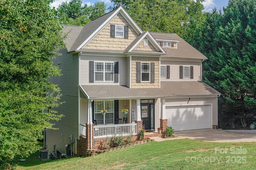
M62 2L58 6L56 16L62 24L84 26L91 20L105 14L105 10L106 4L104 2L95 2L91 6L87 6L87 4L82 6L82 0L71 0Z

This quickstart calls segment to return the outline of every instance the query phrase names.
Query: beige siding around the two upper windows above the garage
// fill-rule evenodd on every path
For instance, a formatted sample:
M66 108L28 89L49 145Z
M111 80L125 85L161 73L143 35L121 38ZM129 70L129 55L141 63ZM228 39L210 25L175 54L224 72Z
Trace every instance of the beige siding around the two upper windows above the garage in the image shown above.
M170 79L161 78L161 81L202 81L201 80L201 61L171 61L161 60L161 66L170 65ZM183 78L180 79L179 66L194 66L194 78Z

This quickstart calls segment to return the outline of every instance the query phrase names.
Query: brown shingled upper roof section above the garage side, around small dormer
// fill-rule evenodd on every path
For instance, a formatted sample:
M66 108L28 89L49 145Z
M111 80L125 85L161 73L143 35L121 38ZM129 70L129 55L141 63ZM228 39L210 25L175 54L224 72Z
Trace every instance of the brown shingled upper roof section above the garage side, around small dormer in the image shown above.
M162 47L167 55L164 57L171 58L185 58L185 59L207 59L202 53L196 50L192 45L187 43L184 39L179 37L175 33L157 33L150 32L156 41L178 41L177 49L172 49L168 47Z

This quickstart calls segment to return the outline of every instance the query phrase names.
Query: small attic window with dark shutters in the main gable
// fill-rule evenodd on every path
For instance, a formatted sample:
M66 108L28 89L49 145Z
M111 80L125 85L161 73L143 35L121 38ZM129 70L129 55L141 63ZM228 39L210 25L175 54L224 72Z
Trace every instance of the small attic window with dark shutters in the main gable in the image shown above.
M111 38L128 38L128 25L110 25Z

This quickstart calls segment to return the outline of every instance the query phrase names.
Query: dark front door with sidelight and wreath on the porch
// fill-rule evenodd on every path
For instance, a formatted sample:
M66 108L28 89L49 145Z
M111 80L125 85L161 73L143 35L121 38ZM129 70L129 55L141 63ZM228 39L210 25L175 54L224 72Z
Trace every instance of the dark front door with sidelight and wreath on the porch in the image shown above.
M140 102L142 126L146 131L151 131L154 130L154 100L152 100L152 103L144 102L146 100Z

